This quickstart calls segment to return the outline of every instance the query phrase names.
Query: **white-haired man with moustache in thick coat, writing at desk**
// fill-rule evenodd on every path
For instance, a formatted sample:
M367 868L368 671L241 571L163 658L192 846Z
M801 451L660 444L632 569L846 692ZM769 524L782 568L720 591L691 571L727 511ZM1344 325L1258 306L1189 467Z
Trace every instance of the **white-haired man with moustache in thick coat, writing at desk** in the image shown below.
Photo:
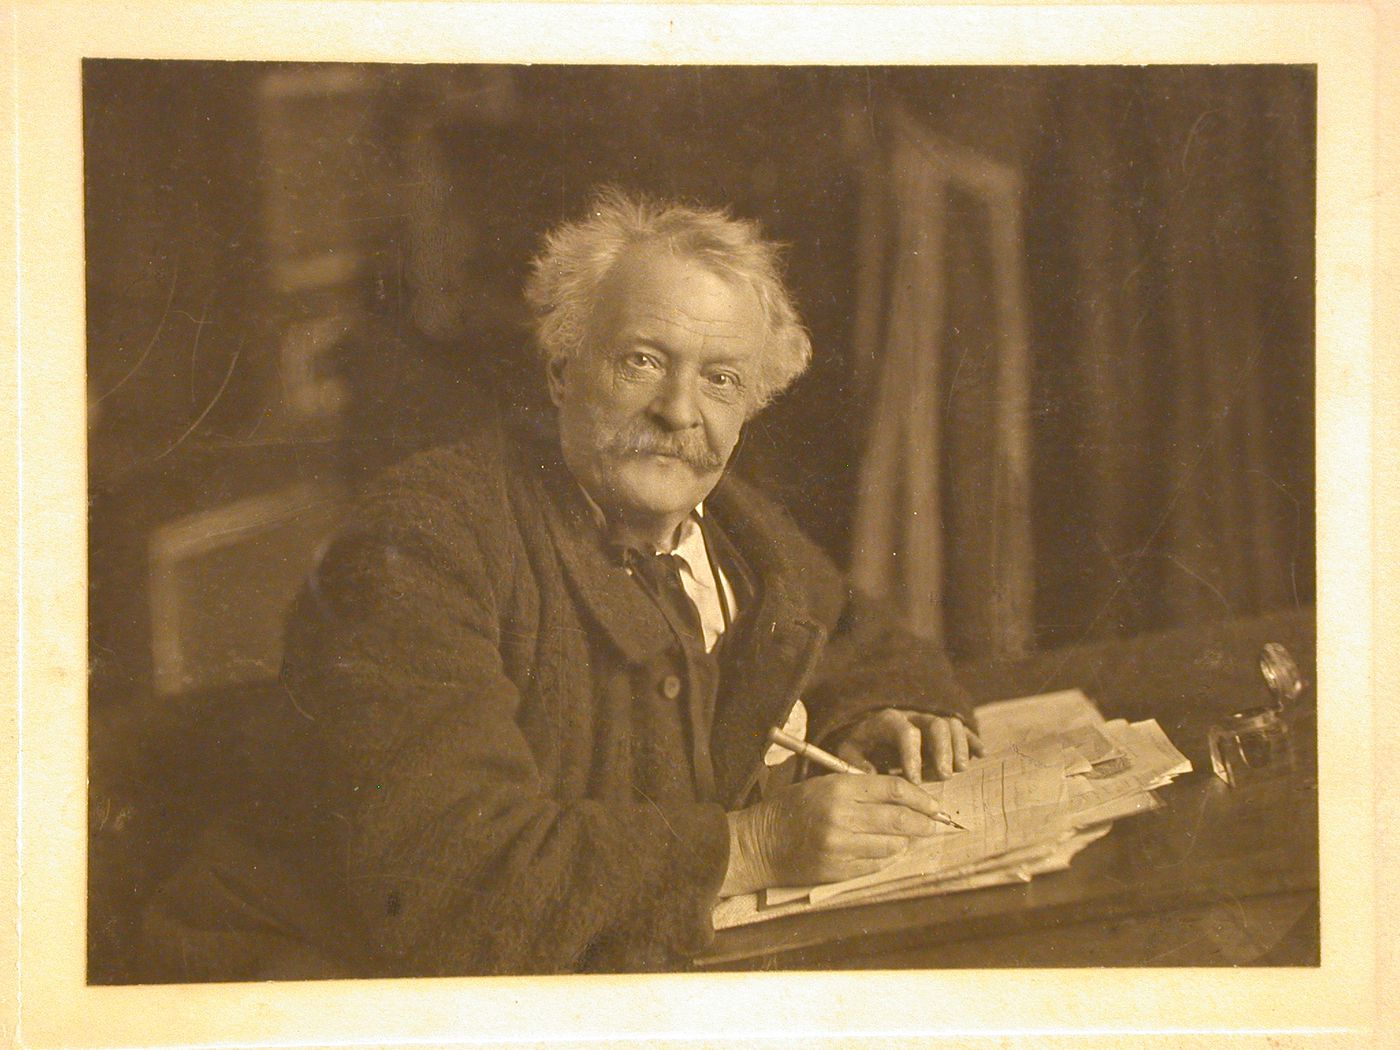
M603 193L526 294L557 426L463 420L332 546L283 676L305 816L157 903L190 976L675 969L718 897L934 833L916 784L977 746L942 655L725 475L809 357L756 227ZM804 724L903 776L794 780L767 732Z

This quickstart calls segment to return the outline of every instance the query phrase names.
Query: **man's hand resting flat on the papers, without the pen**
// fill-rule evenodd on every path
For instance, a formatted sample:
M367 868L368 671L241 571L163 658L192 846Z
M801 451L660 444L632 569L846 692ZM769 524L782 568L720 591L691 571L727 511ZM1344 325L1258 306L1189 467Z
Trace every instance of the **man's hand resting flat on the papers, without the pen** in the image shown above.
M836 746L836 755L869 773L876 771L878 763L885 769L897 764L918 784L925 759L928 771L946 780L981 755L981 741L958 717L886 707L857 722Z

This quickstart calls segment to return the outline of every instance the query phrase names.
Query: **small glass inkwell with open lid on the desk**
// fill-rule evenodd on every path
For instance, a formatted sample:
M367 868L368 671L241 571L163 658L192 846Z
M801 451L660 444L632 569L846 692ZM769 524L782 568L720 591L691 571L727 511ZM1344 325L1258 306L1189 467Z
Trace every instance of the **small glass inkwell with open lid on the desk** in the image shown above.
M1287 776L1294 769L1294 748L1284 720L1285 707L1308 687L1292 654L1271 641L1259 654L1273 703L1250 707L1210 729L1211 769L1231 787Z

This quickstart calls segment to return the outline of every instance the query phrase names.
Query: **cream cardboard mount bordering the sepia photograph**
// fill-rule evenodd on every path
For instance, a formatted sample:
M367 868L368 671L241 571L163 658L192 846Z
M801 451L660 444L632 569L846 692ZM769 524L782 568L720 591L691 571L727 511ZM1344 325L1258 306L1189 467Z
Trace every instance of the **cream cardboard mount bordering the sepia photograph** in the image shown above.
M4 801L17 815L11 1042L858 1046L879 1036L885 1046L1117 1047L1169 1037L1173 1047L1218 1047L1379 1039L1390 956L1378 951L1376 907L1393 899L1394 882L1387 875L1375 885L1385 871L1376 820L1393 816L1394 802L1393 791L1378 794L1375 771L1397 767L1397 727L1394 704L1373 704L1373 640L1394 615L1379 612L1372 588L1378 538L1394 536L1376 514L1389 512L1392 524L1394 514L1358 479L1396 476L1393 452L1372 458L1394 448L1376 440L1372 412L1394 392L1393 379L1375 385L1372 312L1386 298L1373 255L1383 232L1376 193L1393 188L1394 175L1378 178L1382 39L1372 15L1365 4L13 6L20 644L8 727L17 781ZM73 746L85 739L87 720L83 57L1316 64L1322 966L87 986L87 756Z

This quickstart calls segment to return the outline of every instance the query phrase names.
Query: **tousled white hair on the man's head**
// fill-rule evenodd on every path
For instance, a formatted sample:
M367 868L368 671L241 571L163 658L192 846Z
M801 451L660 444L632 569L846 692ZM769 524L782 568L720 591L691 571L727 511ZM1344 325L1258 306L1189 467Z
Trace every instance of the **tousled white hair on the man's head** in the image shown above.
M545 249L531 265L525 300L546 363L584 349L603 280L626 249L648 242L665 244L757 295L767 330L750 412L806 370L812 340L783 286L778 245L763 238L757 223L613 188L601 190L581 220L547 234Z

